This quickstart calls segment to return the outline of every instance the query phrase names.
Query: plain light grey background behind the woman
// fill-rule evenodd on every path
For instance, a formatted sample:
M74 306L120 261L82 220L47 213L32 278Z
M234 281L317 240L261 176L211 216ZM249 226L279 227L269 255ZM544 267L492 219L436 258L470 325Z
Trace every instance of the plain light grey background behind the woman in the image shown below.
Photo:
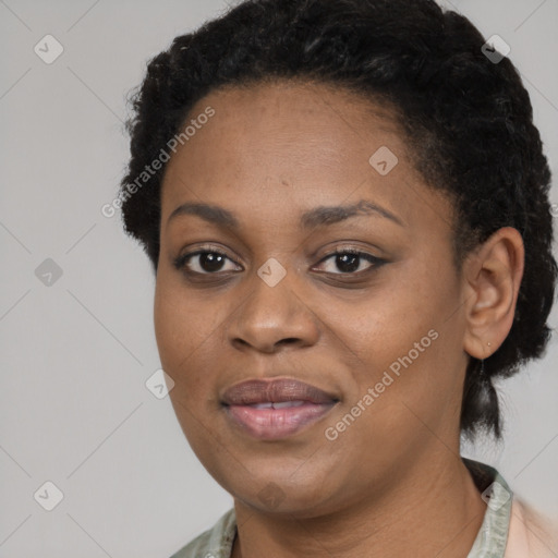
M451 5L511 46L557 174L558 0ZM0 0L1 557L167 558L232 504L190 450L169 398L146 388L160 367L154 277L120 214L100 211L129 155L126 93L174 36L226 8ZM47 34L64 49L51 64L34 51ZM35 271L47 258L62 270L50 286ZM553 514L557 361L554 337L544 360L501 385L505 441L464 447ZM40 490L47 481L64 495L52 511L39 505L53 498Z

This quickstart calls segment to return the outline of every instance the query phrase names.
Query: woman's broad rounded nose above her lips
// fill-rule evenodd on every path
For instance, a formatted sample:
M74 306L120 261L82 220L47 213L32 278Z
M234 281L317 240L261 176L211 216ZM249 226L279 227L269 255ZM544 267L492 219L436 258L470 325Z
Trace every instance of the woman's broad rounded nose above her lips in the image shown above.
M284 347L303 348L318 341L319 320L302 292L296 292L293 275L289 271L271 287L254 274L246 286L250 294L227 326L228 340L234 348L274 353Z

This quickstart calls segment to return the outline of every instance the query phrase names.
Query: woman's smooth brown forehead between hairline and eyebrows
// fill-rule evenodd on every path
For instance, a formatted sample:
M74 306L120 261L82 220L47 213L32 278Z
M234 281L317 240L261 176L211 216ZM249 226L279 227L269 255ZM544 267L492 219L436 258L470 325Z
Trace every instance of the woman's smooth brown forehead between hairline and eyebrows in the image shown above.
M313 83L227 87L199 100L185 125L208 108L215 114L168 163L163 220L186 201L244 216L257 206L274 219L286 204L292 214L367 198L413 217L423 180L393 114L371 100Z

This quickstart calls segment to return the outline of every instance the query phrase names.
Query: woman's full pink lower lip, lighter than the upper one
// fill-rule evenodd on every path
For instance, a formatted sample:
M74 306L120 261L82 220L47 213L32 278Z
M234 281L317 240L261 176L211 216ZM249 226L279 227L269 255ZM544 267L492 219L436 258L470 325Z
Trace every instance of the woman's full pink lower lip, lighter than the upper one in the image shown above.
M254 438L274 440L299 433L319 421L336 403L304 403L286 409L255 409L251 405L226 407L228 416Z

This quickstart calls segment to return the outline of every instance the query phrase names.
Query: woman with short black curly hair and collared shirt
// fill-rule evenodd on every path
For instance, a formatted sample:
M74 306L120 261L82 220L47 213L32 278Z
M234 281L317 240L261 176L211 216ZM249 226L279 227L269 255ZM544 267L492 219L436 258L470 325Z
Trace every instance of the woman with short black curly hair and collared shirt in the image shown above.
M512 63L429 0L252 0L148 65L122 181L193 450L175 558L550 557L460 435L543 354L550 173Z

